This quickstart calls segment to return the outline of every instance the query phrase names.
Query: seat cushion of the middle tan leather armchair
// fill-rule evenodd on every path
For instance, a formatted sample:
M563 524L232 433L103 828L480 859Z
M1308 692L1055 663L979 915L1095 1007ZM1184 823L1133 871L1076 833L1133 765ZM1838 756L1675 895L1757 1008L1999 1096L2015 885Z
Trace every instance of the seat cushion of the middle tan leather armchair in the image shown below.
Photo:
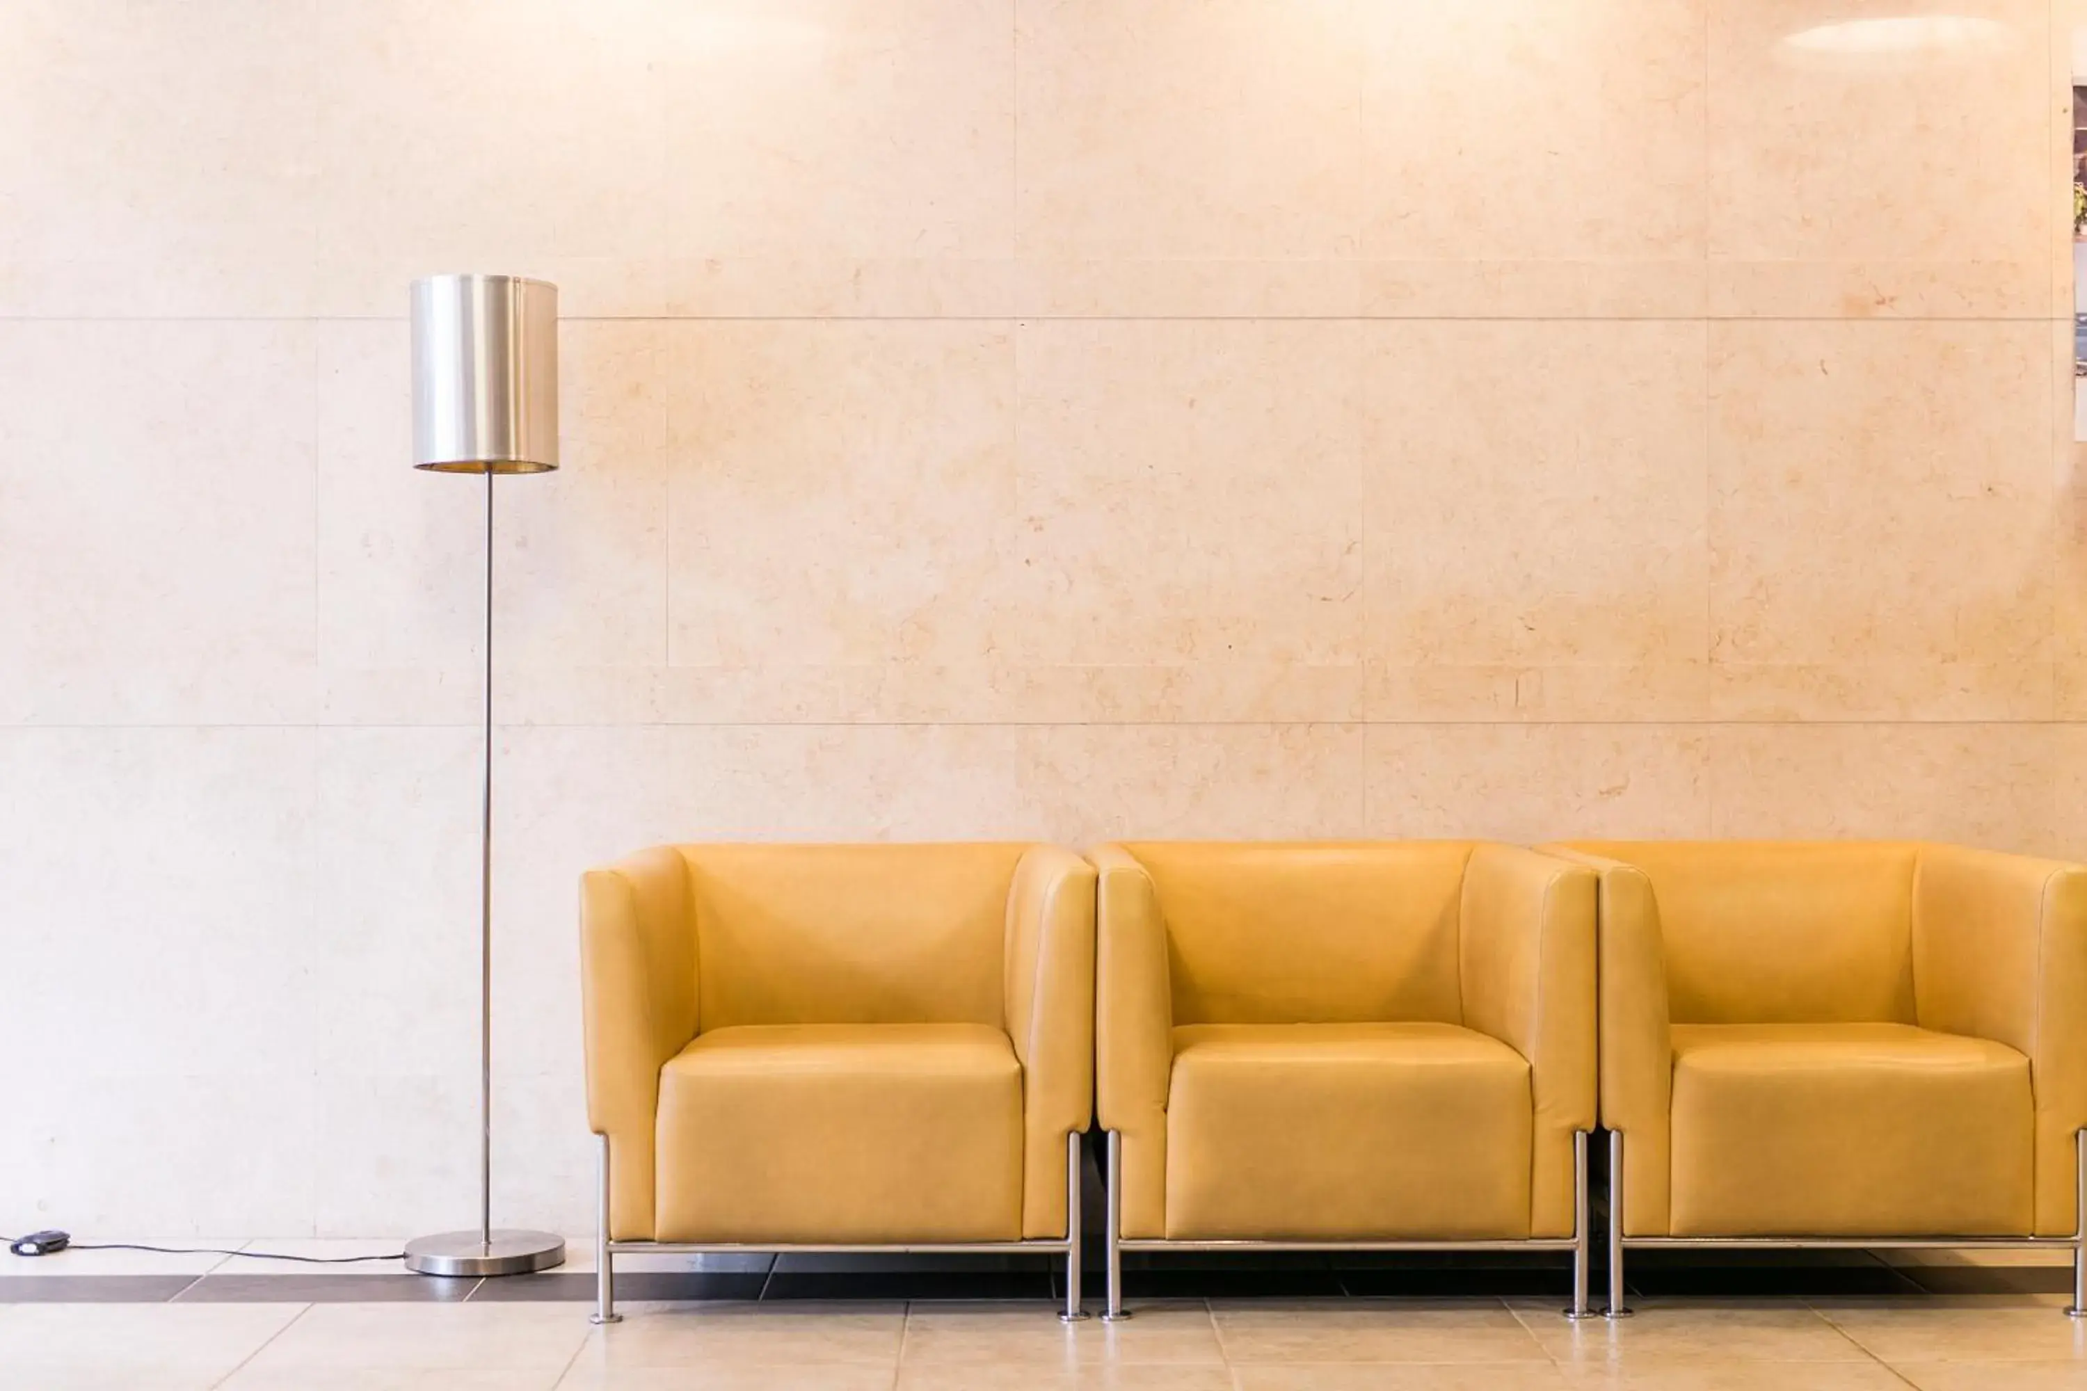
M1167 1235L1530 1233L1530 1066L1455 1024L1173 1030Z

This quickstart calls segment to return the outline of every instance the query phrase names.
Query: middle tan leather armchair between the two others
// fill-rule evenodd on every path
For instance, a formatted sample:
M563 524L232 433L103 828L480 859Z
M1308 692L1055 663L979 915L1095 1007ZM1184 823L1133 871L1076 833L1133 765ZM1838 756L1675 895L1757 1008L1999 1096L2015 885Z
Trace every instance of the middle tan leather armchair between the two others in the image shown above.
M1096 1097L1121 1251L1572 1249L1594 874L1505 845L1104 845Z

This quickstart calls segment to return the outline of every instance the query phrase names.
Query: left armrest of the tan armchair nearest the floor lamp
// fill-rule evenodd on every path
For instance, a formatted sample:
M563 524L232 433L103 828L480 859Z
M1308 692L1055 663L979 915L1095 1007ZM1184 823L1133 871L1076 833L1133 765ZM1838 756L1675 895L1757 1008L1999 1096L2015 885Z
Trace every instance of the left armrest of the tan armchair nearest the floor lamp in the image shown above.
M586 1124L609 1137L609 1233L653 1235L659 1068L695 1039L695 924L680 851L580 876Z

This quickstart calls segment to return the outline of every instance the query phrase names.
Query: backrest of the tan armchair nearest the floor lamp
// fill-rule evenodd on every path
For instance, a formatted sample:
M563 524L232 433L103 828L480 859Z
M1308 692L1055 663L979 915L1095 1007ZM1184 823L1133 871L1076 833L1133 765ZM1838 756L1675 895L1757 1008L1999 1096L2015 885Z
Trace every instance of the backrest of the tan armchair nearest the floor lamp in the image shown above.
M1002 1026L1027 845L685 845L697 1028Z

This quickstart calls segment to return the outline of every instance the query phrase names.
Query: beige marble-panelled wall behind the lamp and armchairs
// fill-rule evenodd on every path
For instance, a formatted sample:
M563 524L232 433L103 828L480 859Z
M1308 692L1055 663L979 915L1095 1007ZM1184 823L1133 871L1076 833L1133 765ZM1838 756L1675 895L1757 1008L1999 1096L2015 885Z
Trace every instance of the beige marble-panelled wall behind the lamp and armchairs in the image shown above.
M1784 42L1928 8L0 0L0 1226L472 1212L428 269L568 313L509 1220L589 1226L572 884L662 838L2087 855L2087 17Z

